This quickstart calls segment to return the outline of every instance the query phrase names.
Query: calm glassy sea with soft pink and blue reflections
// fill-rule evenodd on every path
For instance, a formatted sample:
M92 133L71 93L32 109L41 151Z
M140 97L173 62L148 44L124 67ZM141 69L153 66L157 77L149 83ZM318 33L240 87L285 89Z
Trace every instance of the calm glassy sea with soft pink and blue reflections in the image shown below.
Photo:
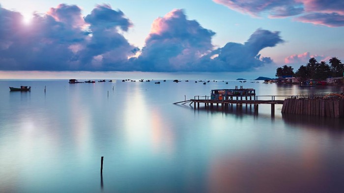
M10 92L21 85L31 91ZM256 80L0 80L0 192L343 193L343 118L173 104L235 86L258 99L342 92Z

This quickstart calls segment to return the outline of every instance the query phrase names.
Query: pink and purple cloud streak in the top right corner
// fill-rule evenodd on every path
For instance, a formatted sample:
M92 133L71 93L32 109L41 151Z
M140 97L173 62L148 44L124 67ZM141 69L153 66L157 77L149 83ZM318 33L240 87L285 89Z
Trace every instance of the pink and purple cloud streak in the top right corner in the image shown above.
M295 21L329 27L344 26L343 0L213 0L232 10L258 17L269 18L297 16Z

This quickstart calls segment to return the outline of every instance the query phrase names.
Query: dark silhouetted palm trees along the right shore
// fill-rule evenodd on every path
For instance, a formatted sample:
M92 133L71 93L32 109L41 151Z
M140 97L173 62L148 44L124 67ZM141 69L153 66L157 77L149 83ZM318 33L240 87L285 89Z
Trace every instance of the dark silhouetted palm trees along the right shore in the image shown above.
M293 76L300 78L301 81L305 81L309 79L326 80L328 77L343 76L344 64L341 60L337 57L332 57L329 63L330 65L324 61L319 63L315 58L311 58L306 65L301 65L295 73L291 66L284 65L277 68L276 77Z

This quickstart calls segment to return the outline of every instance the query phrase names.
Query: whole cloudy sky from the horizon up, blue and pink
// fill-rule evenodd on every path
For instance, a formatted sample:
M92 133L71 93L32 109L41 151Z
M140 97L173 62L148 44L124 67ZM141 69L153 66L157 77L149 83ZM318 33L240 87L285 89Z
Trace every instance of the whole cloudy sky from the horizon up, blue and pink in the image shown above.
M343 0L0 0L0 78L274 77L344 60L343 26Z

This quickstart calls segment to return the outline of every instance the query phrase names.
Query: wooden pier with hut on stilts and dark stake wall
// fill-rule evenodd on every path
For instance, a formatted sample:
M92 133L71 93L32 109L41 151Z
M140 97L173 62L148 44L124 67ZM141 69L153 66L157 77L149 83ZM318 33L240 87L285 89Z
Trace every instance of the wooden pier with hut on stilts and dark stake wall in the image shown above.
M175 102L173 104L187 104L200 109L220 109L222 111L233 110L233 104L237 111L242 111L243 105L254 105L254 113L258 114L259 104L270 104L271 115L275 114L275 105L283 105L282 113L312 115L318 117L344 117L344 96L341 94L310 94L310 95L261 95L257 96L254 89L221 89L211 90L211 96L194 96L193 99ZM215 107L216 106L216 107Z

